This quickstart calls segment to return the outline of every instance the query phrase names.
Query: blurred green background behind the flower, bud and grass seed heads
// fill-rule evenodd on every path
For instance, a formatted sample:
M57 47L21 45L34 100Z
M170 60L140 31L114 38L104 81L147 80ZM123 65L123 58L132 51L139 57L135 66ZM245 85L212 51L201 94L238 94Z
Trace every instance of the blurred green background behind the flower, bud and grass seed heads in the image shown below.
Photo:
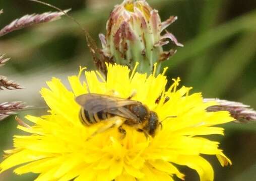
M104 0L45 1L61 9L72 8L71 15L97 40L105 33L105 23L113 5ZM169 27L184 44L165 66L168 77L180 76L182 84L193 86L205 98L221 98L243 102L256 109L256 1L255 0L151 0L162 20L170 15L178 21ZM24 0L4 1L0 9L0 26L25 14L54 11ZM169 47L166 47L168 49ZM0 53L12 59L1 67L1 75L16 80L26 89L1 91L0 101L24 101L35 107L44 106L39 90L52 76L67 83L67 76L77 74L79 65L94 69L81 29L70 19L13 32L0 39ZM42 115L44 109L22 112ZM0 122L0 151L12 147L12 135L19 134L14 117ZM256 180L256 124L224 125L226 136L212 136L233 161L222 168L215 157L215 180ZM186 180L199 180L196 172L180 168ZM17 176L12 170L0 175L0 180L33 180L36 175Z

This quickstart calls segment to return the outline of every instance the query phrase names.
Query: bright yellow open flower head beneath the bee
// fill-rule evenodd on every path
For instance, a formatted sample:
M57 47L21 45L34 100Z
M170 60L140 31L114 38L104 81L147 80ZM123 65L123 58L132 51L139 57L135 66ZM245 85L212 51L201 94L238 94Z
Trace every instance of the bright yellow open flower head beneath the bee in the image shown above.
M223 129L214 126L232 121L228 112L206 112L216 103L204 103L200 93L189 95L191 88L178 89L179 79L165 91L166 69L158 76L131 72L121 65L107 65L107 69L106 80L97 71L86 71L83 83L81 69L78 76L69 77L72 91L57 78L48 81L49 89L42 88L41 94L49 114L27 116L33 125L18 126L29 135L14 136L14 149L5 152L1 172L19 165L15 173L40 173L37 181L153 181L173 180L173 175L185 179L175 163L195 169L200 180L208 181L213 180L214 172L202 155L216 155L222 166L231 164L218 142L201 137L223 135ZM116 127L91 137L107 121L92 126L80 122L81 107L75 98L87 93L125 99L135 93L132 100L156 112L162 128L148 138L125 125L124 138ZM167 102L166 97L170 98Z

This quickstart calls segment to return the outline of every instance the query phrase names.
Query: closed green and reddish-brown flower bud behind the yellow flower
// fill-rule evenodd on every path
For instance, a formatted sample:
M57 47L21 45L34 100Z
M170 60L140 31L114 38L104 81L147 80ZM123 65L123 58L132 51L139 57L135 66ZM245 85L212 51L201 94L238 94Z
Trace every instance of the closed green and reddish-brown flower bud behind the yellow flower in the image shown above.
M139 62L139 71L151 73L155 62L167 60L176 52L163 51L169 40L183 46L173 34L164 31L175 20L177 17L171 16L161 22L158 11L146 1L124 0L110 14L106 36L99 35L102 52L109 60L130 68Z

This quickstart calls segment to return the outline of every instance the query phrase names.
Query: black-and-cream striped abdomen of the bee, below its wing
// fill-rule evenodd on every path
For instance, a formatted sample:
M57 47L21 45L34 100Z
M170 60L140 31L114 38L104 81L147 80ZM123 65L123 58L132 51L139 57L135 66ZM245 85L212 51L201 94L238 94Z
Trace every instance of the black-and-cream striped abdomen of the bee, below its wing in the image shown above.
M88 111L81 109L79 113L79 119L81 123L85 126L90 126L92 124L98 123L107 119L109 116L107 113L100 111L98 113L89 113Z

